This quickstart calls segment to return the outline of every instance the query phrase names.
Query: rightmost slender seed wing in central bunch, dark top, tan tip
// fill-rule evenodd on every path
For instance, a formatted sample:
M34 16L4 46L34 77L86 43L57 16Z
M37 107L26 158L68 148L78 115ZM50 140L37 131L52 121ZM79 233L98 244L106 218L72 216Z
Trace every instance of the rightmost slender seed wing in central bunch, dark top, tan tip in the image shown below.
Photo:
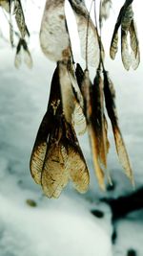
M104 71L104 95L105 95L106 108L112 123L112 131L114 135L114 141L115 141L115 146L116 146L116 151L119 157L119 161L125 170L125 174L133 182L133 170L129 160L128 152L125 147L125 143L121 135L120 128L118 126L118 118L117 118L116 106L115 106L115 92L113 88L113 83L109 78L108 72L106 71Z

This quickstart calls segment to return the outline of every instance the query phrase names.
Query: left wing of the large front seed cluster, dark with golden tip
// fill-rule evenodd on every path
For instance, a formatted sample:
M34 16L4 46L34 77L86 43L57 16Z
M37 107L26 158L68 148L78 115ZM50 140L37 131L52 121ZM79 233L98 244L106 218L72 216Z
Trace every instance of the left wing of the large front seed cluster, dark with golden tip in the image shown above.
M41 173L45 162L50 134L51 132L55 132L55 128L58 126L58 120L55 114L57 111L60 112L60 115L62 114L61 109L59 109L61 108L59 90L58 68L56 68L51 81L48 110L42 120L31 152L31 175L38 184L41 184Z

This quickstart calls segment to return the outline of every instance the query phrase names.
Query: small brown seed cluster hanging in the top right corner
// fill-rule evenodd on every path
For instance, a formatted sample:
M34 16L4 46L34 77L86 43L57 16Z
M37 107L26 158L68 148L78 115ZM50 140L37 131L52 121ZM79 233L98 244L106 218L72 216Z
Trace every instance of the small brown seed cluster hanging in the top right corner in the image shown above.
M114 59L118 50L118 29L121 26L121 57L126 70L136 69L140 62L139 42L133 20L133 0L126 0L121 8L112 35L110 48L111 58ZM128 37L130 35L130 45ZM131 47L131 52L130 52Z

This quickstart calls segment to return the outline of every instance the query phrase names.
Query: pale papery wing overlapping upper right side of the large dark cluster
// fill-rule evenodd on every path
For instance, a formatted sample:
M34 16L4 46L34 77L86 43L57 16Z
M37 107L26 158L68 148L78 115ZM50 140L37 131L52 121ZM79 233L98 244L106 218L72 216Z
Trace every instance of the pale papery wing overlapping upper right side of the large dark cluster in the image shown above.
M79 134L86 130L86 119L83 113L83 98L77 81L65 63L59 63L59 75L62 93L63 110L66 121L72 123Z

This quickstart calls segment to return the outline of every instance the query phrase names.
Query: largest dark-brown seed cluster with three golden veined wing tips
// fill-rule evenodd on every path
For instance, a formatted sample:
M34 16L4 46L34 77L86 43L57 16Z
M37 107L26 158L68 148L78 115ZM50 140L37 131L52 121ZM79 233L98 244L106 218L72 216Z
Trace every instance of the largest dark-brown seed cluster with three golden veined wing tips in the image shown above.
M80 193L89 187L89 171L72 124L64 117L60 91L60 63L51 81L47 113L31 153L31 175L49 198L58 198L72 180Z

